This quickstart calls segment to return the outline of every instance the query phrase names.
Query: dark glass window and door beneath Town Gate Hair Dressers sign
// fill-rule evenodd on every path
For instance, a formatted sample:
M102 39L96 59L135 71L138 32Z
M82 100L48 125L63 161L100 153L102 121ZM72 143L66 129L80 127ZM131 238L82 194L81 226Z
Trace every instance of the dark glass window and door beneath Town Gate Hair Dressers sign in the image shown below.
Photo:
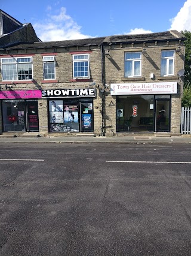
M170 131L170 95L118 96L116 131Z

